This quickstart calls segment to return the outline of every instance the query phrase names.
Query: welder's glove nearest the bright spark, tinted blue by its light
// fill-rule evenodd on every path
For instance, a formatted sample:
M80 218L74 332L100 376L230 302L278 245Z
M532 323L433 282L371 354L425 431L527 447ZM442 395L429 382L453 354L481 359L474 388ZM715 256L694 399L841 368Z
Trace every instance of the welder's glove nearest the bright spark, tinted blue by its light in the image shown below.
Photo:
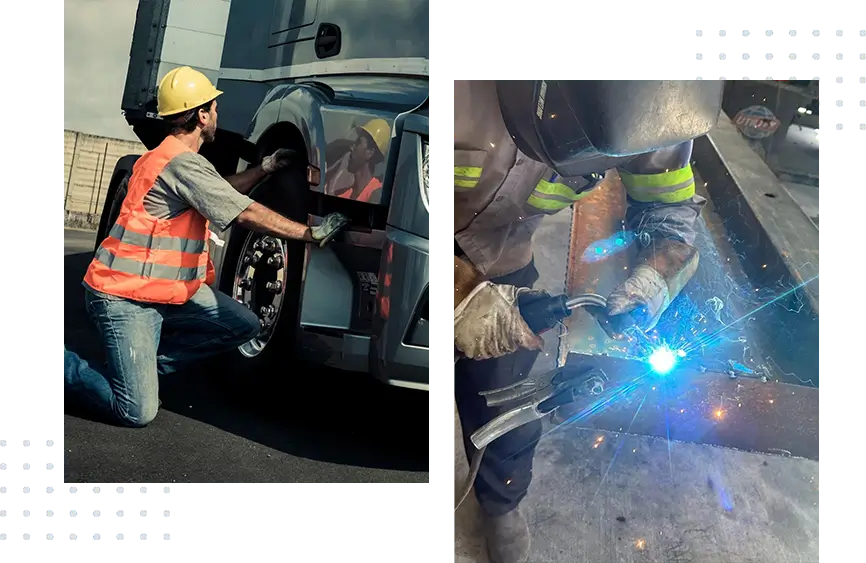
M620 326L648 331L679 295L698 268L698 250L663 239L638 254L631 275L607 298L607 314Z

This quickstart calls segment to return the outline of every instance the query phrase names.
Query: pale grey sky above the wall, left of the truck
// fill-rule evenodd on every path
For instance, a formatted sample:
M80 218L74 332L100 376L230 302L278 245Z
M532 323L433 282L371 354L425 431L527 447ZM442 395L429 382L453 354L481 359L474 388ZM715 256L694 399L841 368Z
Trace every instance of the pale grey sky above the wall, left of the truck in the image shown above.
M138 0L64 0L63 127L136 140L120 114Z

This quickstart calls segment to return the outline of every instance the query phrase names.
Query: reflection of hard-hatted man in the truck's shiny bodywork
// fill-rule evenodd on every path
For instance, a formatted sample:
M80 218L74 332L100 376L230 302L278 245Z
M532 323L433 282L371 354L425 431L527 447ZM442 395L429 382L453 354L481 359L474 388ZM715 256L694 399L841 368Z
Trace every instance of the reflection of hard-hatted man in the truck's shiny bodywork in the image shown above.
M372 119L357 128L358 138L345 157L345 170L352 175L351 185L336 195L357 201L372 201L382 182L373 176L378 165L385 158L391 140L391 127L384 119ZM339 185L338 179L335 180Z

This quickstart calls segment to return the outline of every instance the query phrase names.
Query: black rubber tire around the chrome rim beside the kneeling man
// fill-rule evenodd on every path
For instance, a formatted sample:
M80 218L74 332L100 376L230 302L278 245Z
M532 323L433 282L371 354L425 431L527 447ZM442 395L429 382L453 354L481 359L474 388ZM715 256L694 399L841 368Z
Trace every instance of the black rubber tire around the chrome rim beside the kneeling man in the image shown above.
M279 212L285 217L306 223L308 210L308 188L306 167L293 166L257 186L251 197ZM231 297L236 297L235 278L242 251L251 232L240 227L232 228L228 249L223 260L219 288ZM259 236L253 233L253 236ZM282 304L271 336L264 349L254 357L247 357L239 350L230 354L232 371L244 375L250 372L267 373L267 368L276 363L285 366L288 357L294 355L298 337L301 276L304 267L305 244L301 241L286 241ZM258 314L258 312L257 312Z

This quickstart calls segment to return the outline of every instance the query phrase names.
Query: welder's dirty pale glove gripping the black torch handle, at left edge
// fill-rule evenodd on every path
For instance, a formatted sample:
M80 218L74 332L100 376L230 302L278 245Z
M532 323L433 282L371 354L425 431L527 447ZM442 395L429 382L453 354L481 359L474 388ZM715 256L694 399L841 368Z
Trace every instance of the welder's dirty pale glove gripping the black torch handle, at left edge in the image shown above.
M454 345L467 358L487 360L520 348L540 350L544 340L532 332L517 308L529 291L489 281L476 286L454 310Z

